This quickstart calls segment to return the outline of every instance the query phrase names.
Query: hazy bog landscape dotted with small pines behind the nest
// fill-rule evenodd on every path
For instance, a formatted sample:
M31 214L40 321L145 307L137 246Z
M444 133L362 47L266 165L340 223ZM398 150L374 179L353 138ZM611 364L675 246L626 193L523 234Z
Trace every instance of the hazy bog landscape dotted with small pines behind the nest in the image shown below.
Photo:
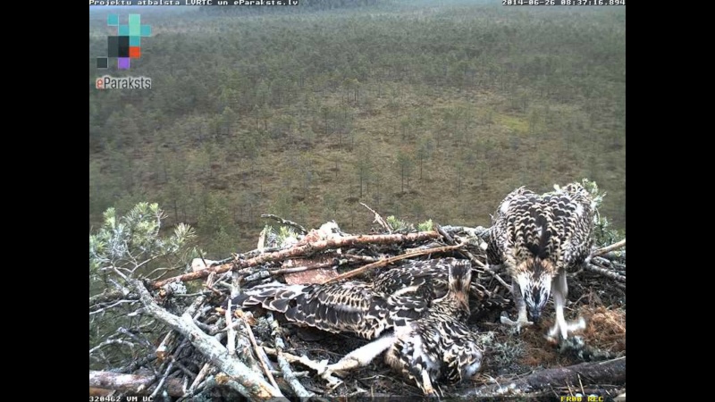
M489 226L514 188L584 177L626 229L625 7L300 4L132 9L152 36L129 71L95 68L111 29L90 8L90 229L158 202L222 258L264 213ZM98 91L105 73L152 88Z

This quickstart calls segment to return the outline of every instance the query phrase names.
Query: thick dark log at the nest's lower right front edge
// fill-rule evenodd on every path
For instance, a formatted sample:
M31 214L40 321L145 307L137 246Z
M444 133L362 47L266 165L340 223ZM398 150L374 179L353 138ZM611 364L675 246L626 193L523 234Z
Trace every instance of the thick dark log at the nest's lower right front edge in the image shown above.
M517 380L499 380L497 384L484 385L458 395L459 397L503 397L511 394L533 392L552 387L562 387L579 383L600 384L626 381L626 357L605 362L581 363L568 367L556 367L531 373Z

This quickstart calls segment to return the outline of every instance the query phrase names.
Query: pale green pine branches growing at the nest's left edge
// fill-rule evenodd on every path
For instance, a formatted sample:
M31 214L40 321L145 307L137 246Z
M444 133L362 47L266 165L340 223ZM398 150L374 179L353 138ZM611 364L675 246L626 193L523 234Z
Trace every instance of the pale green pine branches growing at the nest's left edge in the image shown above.
M163 234L164 218L164 211L156 204L139 203L124 215L109 208L102 225L89 235L89 293L93 295L89 305L97 307L89 313L89 348L104 348L95 356L90 352L90 369L126 362L129 357L126 356L127 348L122 348L126 342L118 340L118 334L122 332L118 329L136 324L145 333L164 331L155 328L156 322L145 315L136 314L139 300L127 296L130 289L126 281L162 278L198 256L196 249L191 247L194 230L180 223L171 233ZM183 283L175 284L172 290L186 292ZM113 293L126 299L117 301L119 297L113 297ZM130 350L134 350L133 347Z

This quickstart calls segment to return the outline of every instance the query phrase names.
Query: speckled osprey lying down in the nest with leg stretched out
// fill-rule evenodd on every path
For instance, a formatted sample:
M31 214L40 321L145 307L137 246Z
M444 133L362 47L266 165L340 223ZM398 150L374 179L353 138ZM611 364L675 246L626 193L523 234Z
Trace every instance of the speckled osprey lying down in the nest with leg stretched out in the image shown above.
M425 272L435 281L427 281ZM387 351L387 364L433 395L435 381L461 381L482 363L479 339L465 324L471 274L467 260L445 258L392 268L373 283L260 285L234 301L236 306L260 304L324 331L374 339L326 366L324 375L369 364Z

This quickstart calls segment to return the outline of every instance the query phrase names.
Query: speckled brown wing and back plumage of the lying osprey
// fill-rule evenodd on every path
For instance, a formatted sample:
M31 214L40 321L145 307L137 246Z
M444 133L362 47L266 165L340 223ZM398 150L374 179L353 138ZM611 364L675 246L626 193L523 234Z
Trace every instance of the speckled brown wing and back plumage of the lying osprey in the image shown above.
M431 300L444 297L450 266L471 270L469 261L456 258L414 261L391 267L370 283L260 285L247 289L232 304L259 305L285 314L291 322L375 339L385 330L421 317ZM481 285L470 283L467 289L473 298L485 300Z

